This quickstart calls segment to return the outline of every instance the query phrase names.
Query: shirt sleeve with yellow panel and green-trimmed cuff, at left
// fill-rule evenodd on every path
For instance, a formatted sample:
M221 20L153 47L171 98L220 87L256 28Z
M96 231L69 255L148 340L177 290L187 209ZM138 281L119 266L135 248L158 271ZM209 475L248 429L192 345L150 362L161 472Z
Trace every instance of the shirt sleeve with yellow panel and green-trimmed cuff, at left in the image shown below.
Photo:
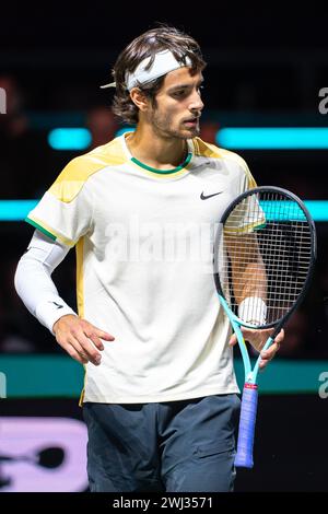
M74 246L92 223L91 190L79 167L79 157L71 161L25 219L67 246Z

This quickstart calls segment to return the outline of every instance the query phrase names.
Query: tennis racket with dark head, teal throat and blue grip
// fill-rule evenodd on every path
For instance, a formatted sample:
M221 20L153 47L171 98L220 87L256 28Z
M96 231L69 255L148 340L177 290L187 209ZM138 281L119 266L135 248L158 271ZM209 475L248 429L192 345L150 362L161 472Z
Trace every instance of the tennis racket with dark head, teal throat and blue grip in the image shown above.
M253 467L257 374L241 327L274 327L262 350L305 295L316 257L314 222L304 203L278 187L238 196L222 215L214 243L214 280L222 307L237 337L245 384L235 466Z

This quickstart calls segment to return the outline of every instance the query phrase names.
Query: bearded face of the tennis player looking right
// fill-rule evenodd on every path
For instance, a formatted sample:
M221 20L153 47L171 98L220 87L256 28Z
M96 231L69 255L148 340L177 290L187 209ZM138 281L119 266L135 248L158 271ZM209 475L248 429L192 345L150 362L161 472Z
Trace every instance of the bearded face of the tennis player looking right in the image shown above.
M199 135L199 117L203 108L200 87L201 72L194 75L190 68L171 71L150 105L148 119L155 133L164 138L190 139Z

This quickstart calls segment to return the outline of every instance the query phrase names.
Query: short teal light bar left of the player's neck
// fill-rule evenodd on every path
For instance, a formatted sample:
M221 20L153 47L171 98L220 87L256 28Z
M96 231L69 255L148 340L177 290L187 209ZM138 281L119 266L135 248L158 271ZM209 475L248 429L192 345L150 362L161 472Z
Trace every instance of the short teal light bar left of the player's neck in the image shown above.
M86 128L56 128L48 133L54 150L85 150L92 141Z

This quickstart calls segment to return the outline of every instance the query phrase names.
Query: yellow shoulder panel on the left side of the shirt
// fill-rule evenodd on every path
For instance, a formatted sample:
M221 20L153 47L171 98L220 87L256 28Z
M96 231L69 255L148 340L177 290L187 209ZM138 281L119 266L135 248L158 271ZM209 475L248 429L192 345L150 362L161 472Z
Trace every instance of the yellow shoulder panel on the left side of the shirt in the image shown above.
M94 173L106 166L119 166L126 161L127 156L124 153L121 142L116 138L109 143L97 147L70 161L49 188L49 192L58 200L69 203Z

